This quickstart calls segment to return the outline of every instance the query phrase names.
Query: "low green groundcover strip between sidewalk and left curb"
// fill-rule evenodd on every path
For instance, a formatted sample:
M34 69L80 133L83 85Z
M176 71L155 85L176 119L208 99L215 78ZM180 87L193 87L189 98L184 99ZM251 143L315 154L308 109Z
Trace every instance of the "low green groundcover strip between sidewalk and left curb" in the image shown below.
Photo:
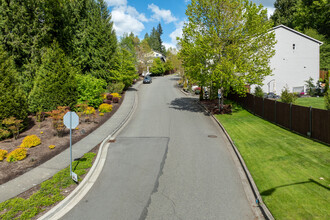
M95 153L86 153L72 163L73 171L78 175L79 181L88 168L92 166ZM67 167L51 179L41 183L40 189L27 199L16 197L0 203L0 219L31 219L45 210L45 207L63 200L62 192L71 185L76 184L70 177L70 167Z

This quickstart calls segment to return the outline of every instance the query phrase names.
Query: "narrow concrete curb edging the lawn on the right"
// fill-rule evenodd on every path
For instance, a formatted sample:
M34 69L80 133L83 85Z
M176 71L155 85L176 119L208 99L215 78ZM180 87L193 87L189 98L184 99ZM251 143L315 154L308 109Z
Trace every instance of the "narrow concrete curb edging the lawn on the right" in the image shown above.
M225 133L230 145L232 146L236 156L237 156L237 159L239 160L239 163L241 164L241 167L243 168L243 171L244 171L244 174L249 182L249 185L250 185L250 188L252 189L252 192L253 192L253 195L255 197L255 202L256 204L258 205L261 213L263 214L263 216L265 217L265 219L269 219L269 220L273 220L275 219L273 217L273 215L271 214L271 212L269 211L269 209L267 208L267 206L265 205L265 203L263 202L262 198L261 198L261 195L260 195L260 192L257 188L257 185L255 184L252 176L251 176L251 173L249 171L249 169L247 168L241 154L239 153L236 145L234 144L233 140L231 139L231 137L229 136L228 132L226 131L226 129L223 127L223 125L218 121L218 119L211 113L209 112L209 110L204 106L202 105L200 102L197 102L212 118L213 120L219 125L219 127L221 128L221 130Z

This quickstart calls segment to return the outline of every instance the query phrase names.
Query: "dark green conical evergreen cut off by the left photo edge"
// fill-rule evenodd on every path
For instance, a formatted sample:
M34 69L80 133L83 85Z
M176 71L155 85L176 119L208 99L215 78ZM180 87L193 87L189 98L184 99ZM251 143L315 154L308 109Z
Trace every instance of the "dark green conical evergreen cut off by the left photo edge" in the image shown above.
M0 46L0 121L11 116L26 120L28 106L17 81L13 59Z

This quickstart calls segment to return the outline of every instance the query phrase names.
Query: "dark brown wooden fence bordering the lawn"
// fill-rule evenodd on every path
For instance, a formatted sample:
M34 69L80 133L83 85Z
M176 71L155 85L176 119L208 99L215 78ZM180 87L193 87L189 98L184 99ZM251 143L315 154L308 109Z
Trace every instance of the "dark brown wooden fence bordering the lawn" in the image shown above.
M229 95L228 98L270 122L330 144L330 111L328 110L286 104L259 98L249 93L246 97Z

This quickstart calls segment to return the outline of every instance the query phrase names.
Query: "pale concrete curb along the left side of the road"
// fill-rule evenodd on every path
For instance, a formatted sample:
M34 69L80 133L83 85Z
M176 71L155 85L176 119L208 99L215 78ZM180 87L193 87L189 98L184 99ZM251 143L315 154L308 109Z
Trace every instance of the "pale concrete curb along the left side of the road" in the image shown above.
M141 84L137 85L139 87ZM106 137L99 149L99 153L95 159L93 166L91 167L88 174L85 176L83 181L78 185L78 187L70 193L64 200L58 203L54 208L49 210L46 214L38 218L38 220L44 219L59 219L63 217L67 212L69 212L92 188L96 182L98 176L100 175L103 166L106 161L108 148L110 147L109 141L114 140L115 137L120 133L120 131L127 125L127 123L132 118L138 104L138 95L137 92L134 94L134 102L132 108L124 120L119 124L119 126L108 136Z

